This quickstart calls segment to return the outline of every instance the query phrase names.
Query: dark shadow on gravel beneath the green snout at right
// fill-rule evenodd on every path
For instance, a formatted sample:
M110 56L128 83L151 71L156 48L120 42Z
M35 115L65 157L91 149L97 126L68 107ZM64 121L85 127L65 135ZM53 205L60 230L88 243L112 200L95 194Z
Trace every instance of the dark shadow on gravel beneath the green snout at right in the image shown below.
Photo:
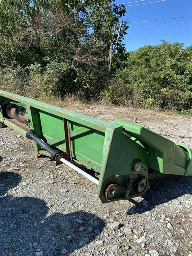
M192 177L175 175L170 178L151 180L149 185L150 188L143 196L143 201L138 203L133 198L129 199L135 206L128 209L128 215L150 211L157 205L168 203L184 194L192 194ZM145 205L145 201L147 201L147 205ZM179 198L177 203L179 203Z

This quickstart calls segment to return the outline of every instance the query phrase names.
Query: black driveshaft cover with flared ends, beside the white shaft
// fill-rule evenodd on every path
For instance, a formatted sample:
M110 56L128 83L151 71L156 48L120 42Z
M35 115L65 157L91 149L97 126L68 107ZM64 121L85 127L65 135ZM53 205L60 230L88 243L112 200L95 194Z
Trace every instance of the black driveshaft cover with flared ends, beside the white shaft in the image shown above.
M36 137L36 134L35 134L34 130L32 130L32 129L28 130L28 132L26 132L26 137L30 140L34 140L39 146L41 146L43 149L45 149L47 152L49 152L49 154L51 154L52 160L55 160L55 156L57 154L61 154L60 151L52 149L45 143L45 141L42 141L41 139Z

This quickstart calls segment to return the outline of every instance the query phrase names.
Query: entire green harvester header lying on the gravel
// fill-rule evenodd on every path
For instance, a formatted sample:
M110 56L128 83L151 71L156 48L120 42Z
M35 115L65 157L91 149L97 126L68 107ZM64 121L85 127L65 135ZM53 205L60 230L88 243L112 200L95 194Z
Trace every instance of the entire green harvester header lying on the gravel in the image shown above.
M189 147L123 120L109 124L0 90L0 123L31 139L36 157L96 183L103 203L142 196L149 179L192 175Z

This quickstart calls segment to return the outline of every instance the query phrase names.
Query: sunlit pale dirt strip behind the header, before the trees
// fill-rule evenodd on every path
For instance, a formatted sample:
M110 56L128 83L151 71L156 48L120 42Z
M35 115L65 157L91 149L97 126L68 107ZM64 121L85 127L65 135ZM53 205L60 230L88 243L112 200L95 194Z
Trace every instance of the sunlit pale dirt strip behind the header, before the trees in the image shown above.
M126 107L104 107L102 105L77 105L66 109L90 115L114 123L122 119L149 128L176 143L192 147L192 118L176 114L133 109Z

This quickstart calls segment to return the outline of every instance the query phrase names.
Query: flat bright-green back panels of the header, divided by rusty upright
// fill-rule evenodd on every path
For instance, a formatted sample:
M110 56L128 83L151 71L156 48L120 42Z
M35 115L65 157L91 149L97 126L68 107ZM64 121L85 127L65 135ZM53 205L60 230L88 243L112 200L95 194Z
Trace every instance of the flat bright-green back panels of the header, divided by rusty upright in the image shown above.
M64 135L64 122L62 117L58 117L42 110L39 110L38 112L41 123L41 132L48 142L49 139ZM80 127L87 128L75 122L70 122L70 131L72 131L72 128L73 130L76 130ZM79 159L85 166L89 165L91 166L91 169L100 172L104 136L105 133L103 132L90 130L72 137L71 149L73 158ZM65 141L55 144L54 147L65 151Z

